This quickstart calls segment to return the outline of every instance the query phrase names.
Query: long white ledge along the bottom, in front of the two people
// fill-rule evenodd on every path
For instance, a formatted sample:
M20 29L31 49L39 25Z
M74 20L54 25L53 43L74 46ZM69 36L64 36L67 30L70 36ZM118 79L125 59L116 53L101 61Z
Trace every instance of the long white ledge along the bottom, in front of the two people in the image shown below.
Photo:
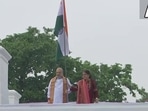
M53 104L32 103L0 105L0 111L148 111L148 103Z

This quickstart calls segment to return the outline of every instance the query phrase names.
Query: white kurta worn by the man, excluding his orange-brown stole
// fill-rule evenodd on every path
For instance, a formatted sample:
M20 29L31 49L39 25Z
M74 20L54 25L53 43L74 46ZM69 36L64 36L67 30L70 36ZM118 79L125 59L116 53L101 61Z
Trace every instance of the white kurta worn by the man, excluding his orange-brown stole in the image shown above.
M72 84L70 83L68 78L67 78L67 83L68 83L68 93L70 93L70 87L72 86ZM51 81L49 82L48 86L47 98L50 98L50 86L51 86ZM63 103L63 79L56 79L53 103Z

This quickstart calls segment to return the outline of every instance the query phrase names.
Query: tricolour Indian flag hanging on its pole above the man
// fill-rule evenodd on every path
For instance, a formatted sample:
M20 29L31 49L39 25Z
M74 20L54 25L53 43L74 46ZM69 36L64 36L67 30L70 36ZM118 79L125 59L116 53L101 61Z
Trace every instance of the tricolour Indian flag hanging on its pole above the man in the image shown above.
M57 60L62 56L67 56L69 51L68 28L66 19L65 0L61 0L60 9L56 19L54 34L58 37Z

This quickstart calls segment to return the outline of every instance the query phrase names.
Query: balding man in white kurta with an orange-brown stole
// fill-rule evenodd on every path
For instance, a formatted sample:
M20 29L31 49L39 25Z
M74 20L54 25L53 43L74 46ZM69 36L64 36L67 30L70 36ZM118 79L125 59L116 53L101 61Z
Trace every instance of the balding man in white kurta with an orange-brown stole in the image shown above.
M66 88L64 88L65 87L64 83L65 85L67 85ZM48 92L47 92L48 103L54 104L54 103L68 102L68 94L70 93L71 86L72 85L69 79L63 76L63 69L57 68L56 77L52 78L49 82ZM67 97L64 97L64 96L67 96ZM66 100L63 100L64 98Z

